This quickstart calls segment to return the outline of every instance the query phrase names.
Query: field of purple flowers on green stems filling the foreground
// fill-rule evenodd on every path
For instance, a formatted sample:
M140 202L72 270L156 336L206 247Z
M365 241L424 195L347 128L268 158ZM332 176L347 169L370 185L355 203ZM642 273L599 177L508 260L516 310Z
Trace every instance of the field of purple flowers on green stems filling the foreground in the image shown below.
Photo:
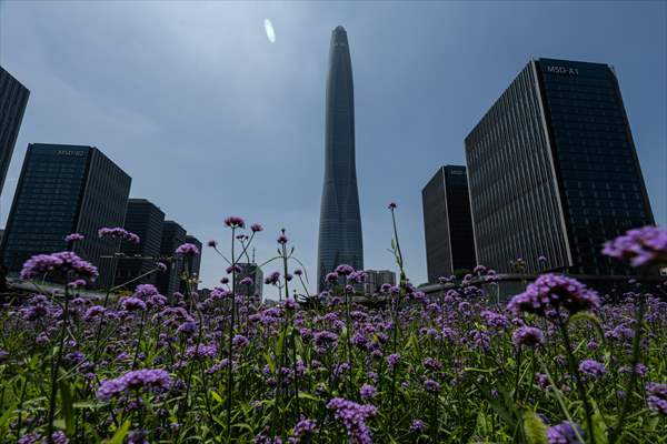
M143 284L91 301L78 289L97 275L92 264L64 252L28 261L36 287L56 273L70 284L0 312L0 442L667 440L667 285L639 280L613 304L557 274L507 304L469 279L426 295L406 280L396 236L399 285L359 297L364 273L341 265L313 299L301 295L306 274L282 231L266 265L280 270L267 284L281 302L267 306L235 279L262 229L226 224L231 254L209 245L229 266L206 299ZM138 241L130 234L100 232ZM645 228L605 253L641 272L665 260L666 238ZM199 251L175 253L187 263Z

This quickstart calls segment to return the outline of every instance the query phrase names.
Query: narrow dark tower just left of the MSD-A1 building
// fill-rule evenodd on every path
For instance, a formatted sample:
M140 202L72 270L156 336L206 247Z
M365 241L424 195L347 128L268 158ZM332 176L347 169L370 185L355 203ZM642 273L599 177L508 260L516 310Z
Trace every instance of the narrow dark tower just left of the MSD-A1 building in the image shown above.
M428 281L476 265L466 167L438 169L421 190Z

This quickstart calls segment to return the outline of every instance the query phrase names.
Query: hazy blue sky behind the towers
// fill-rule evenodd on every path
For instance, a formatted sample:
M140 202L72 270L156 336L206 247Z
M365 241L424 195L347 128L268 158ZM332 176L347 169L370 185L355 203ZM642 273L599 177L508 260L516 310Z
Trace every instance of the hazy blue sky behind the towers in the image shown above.
M276 42L265 34L270 19ZM426 280L421 188L531 58L615 65L657 222L667 221L667 3L2 1L0 63L31 90L4 224L30 142L100 148L203 242L222 220L280 228L315 272L331 30L348 31L365 265ZM223 263L205 252L213 285ZM267 271L272 271L269 266ZM313 275L311 278L315 278ZM315 279L311 279L313 282Z

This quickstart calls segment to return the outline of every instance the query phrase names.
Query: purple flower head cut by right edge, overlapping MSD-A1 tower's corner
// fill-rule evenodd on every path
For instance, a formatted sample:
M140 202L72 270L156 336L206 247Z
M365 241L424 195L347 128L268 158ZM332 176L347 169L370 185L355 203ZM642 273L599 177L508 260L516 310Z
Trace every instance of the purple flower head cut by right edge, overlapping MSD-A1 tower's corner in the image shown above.
M667 261L667 230L643 226L605 242L603 254L629 261L633 266L651 265Z

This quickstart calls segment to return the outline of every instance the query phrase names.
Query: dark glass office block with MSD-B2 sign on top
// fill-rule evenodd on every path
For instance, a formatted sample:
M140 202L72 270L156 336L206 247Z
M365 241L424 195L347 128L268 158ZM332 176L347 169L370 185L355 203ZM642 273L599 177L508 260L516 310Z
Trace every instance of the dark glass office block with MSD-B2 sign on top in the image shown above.
M30 256L67 250L64 236L81 233L73 250L100 269L97 286L106 286L117 242L98 230L123 225L130 183L94 147L31 143L0 248L4 265L19 272Z

